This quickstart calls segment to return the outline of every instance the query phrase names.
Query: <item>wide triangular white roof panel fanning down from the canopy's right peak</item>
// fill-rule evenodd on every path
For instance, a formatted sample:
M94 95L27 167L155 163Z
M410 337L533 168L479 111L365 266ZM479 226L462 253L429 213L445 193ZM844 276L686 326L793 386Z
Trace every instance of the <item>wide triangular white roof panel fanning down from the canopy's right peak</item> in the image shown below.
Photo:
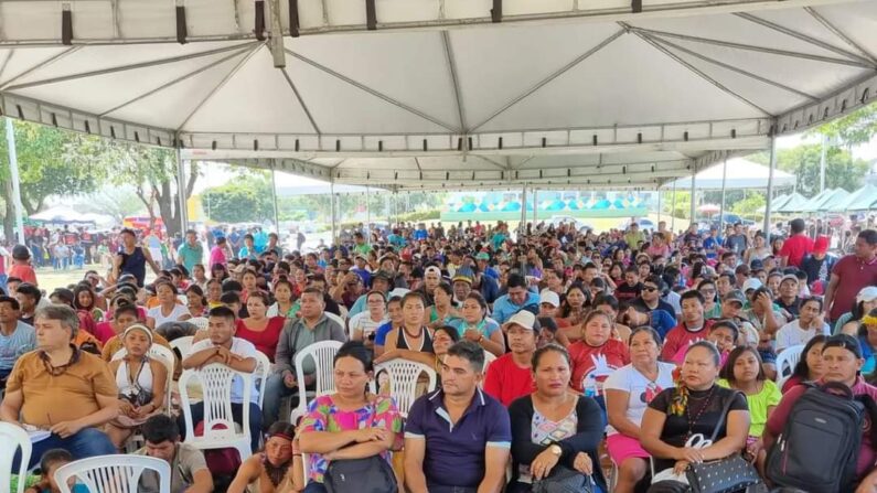
M678 69L677 69L678 68ZM641 82L651 74L649 84ZM672 103L672 104L670 104ZM502 130L764 116L635 35L623 35L484 127Z

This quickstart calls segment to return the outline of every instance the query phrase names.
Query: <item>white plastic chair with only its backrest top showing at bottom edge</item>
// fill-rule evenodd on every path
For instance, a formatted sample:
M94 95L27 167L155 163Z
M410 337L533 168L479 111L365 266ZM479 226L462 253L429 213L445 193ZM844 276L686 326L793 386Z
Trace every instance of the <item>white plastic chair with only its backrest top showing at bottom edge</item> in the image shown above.
M61 493L71 493L67 481L76 480L92 493L137 493L147 470L159 475L159 491L171 491L171 464L147 456L100 456L57 468L55 483Z

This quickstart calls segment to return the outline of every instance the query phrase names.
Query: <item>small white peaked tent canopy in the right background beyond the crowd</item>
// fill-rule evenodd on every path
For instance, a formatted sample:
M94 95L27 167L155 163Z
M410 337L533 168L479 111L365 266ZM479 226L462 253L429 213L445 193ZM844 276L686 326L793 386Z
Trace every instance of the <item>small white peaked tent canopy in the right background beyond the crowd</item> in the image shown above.
M696 190L720 190L723 187L723 167L724 163L715 164L704 171L698 172L694 178ZM725 189L764 189L768 186L768 167L747 161L742 158L728 160L728 171L725 179ZM793 174L785 171L773 170L773 186L792 186L795 183ZM665 184L664 190L676 187L678 190L689 190L692 187L691 176L681 178L672 183Z

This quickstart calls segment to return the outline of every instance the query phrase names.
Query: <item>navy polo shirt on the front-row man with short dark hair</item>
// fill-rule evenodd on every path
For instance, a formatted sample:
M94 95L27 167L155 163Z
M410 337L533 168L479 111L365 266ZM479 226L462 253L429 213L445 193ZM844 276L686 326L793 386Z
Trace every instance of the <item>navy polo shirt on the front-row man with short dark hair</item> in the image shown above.
M484 479L484 449L510 449L509 410L480 388L462 417L452 425L442 390L418 398L408 411L406 439L426 441L424 475L429 491L478 487Z

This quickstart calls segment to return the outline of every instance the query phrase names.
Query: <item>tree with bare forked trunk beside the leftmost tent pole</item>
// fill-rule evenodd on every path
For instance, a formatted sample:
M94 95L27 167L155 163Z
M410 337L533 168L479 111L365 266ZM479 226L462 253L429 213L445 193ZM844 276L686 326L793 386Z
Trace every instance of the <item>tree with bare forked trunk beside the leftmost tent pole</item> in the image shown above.
M110 141L105 148L105 152L115 158L110 181L116 185L135 186L135 193L149 214L150 227L154 224L156 217L160 215L169 236L182 233L180 191L175 186L175 151L167 148ZM197 161L192 161L183 190L185 197L192 195L199 174ZM156 207L158 207L158 215Z

